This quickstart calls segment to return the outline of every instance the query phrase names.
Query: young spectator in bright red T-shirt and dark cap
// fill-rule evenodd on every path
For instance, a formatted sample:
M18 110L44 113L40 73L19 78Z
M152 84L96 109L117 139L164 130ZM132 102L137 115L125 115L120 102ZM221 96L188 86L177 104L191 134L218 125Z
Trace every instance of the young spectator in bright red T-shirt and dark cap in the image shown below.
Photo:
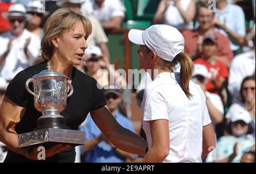
M194 63L205 65L210 74L210 80L207 83L206 90L221 96L221 91L225 87L228 79L228 68L218 60L217 37L213 34L205 35L202 45L203 58L198 58Z

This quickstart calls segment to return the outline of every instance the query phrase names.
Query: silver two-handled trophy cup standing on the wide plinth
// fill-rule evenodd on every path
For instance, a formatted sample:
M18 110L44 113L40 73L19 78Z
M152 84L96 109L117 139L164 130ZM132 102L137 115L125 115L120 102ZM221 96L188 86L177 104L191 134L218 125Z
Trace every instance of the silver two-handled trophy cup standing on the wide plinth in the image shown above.
M34 84L34 92L29 88L30 83ZM68 87L70 91L67 95ZM73 94L73 87L72 84L68 83L68 77L53 71L51 74L37 74L27 80L26 89L34 96L35 108L42 112L42 116L38 118L38 127L35 130L69 129L65 125L65 118L60 114L67 105L67 97Z

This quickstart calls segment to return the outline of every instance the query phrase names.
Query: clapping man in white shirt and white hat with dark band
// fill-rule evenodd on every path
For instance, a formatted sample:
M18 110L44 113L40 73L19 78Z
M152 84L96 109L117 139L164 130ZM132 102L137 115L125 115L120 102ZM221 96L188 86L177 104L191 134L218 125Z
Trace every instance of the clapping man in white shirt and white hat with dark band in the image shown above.
M40 40L24 28L27 16L23 5L14 4L3 15L11 30L0 35L0 76L10 81L39 57Z

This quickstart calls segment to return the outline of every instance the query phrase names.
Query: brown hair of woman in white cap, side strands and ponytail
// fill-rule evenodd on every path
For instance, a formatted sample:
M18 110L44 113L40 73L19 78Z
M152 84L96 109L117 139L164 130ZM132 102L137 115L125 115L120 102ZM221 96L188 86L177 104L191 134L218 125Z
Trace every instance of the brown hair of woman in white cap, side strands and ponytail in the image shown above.
M164 66L171 71L174 71L174 67L177 63L180 63L180 87L188 98L192 97L192 94L189 92L189 80L191 79L194 70L194 64L191 58L187 54L181 52L175 56L172 62L163 59L161 60L164 62Z

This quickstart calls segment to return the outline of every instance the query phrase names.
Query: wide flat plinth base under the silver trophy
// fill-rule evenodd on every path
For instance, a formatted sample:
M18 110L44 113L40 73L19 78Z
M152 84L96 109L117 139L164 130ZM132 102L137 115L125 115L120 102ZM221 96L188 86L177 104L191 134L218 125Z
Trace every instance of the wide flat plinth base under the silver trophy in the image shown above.
M67 143L72 146L85 144L85 132L67 129L42 129L18 135L19 148L35 146L52 146L56 143Z

